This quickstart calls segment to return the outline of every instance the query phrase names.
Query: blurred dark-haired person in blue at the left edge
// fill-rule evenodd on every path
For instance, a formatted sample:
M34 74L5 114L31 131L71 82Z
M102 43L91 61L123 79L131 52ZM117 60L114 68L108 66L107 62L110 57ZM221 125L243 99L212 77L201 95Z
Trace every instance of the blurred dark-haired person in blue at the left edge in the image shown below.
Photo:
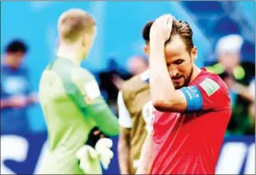
M1 62L1 133L26 132L27 110L37 101L31 91L27 68L22 65L27 46L24 41L11 41Z

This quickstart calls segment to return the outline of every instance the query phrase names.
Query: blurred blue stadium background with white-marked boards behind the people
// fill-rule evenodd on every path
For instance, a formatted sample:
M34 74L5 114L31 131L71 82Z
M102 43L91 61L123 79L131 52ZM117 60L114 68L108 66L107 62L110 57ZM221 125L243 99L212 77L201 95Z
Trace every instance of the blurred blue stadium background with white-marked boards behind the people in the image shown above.
M142 55L142 27L161 14L186 20L198 46L198 66L214 60L214 45L220 36L240 34L249 43L242 54L255 63L254 2L1 2L1 48L14 38L30 46L25 64L31 71L34 90L43 68L54 58L58 15L68 8L83 8L97 20L97 38L83 63L95 75L109 69L114 60L125 71L128 58ZM253 48L253 49L252 49ZM245 60L243 60L245 61ZM36 173L40 167L46 127L39 105L30 108L31 133L1 136L1 174ZM11 123L10 123L11 124ZM116 142L114 160L105 173L119 173ZM255 173L254 135L225 138L217 173Z

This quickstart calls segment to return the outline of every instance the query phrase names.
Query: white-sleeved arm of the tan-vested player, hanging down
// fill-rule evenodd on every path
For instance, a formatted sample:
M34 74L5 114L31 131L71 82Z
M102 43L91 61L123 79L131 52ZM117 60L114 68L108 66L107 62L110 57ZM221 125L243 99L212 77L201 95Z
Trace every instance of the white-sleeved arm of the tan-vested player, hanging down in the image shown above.
M131 174L130 170L130 130L132 127L132 121L130 113L125 107L122 92L118 95L118 107L119 107L119 123L120 123L120 137L118 142L118 156L121 174Z

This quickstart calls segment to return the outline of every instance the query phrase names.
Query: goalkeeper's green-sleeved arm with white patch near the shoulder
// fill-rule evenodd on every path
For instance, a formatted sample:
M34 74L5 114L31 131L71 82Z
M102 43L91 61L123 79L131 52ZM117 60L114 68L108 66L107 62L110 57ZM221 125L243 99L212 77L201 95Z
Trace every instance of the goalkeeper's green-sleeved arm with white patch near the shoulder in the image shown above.
M71 80L78 88L74 93L75 102L81 107L87 117L92 118L99 130L108 136L119 134L118 118L110 110L100 92L94 76L84 69L75 69L71 74Z

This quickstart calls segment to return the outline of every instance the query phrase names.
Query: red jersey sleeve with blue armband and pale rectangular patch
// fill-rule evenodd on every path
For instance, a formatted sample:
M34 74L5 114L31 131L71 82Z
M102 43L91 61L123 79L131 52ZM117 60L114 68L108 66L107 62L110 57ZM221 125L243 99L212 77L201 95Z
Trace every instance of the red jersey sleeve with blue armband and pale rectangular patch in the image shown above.
M188 112L199 110L221 110L230 107L225 84L220 80L205 78L196 85L181 88L186 96Z

